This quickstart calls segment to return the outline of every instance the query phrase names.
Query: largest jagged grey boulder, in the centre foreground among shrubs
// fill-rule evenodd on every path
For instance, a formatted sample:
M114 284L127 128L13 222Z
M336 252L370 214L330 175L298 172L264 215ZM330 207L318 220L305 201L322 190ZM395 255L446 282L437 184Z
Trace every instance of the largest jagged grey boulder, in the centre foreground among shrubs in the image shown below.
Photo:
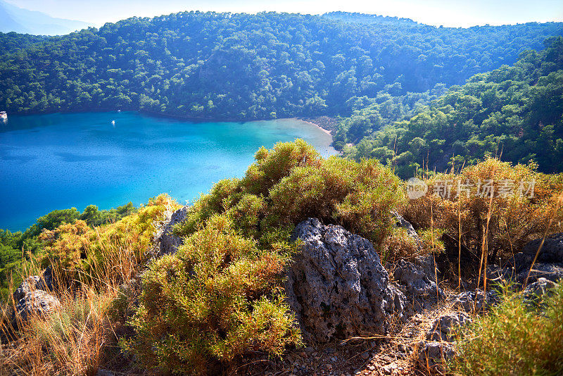
M388 283L367 239L315 218L297 225L293 237L302 246L288 270L286 294L305 340L384 334L391 316L401 315L405 296Z

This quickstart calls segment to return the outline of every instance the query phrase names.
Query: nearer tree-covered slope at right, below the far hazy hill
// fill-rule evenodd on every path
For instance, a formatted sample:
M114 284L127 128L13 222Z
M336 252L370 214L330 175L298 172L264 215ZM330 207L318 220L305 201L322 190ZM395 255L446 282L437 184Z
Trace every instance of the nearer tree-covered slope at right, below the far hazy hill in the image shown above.
M358 111L343 121L339 140L358 137L358 129L367 136L345 148L346 154L393 163L402 177L422 166L443 171L472 165L487 153L512 163L538 163L545 173L562 171L563 37L545 44L543 51L521 54L513 66L451 87L425 111L383 130L369 131L380 118L376 106Z

